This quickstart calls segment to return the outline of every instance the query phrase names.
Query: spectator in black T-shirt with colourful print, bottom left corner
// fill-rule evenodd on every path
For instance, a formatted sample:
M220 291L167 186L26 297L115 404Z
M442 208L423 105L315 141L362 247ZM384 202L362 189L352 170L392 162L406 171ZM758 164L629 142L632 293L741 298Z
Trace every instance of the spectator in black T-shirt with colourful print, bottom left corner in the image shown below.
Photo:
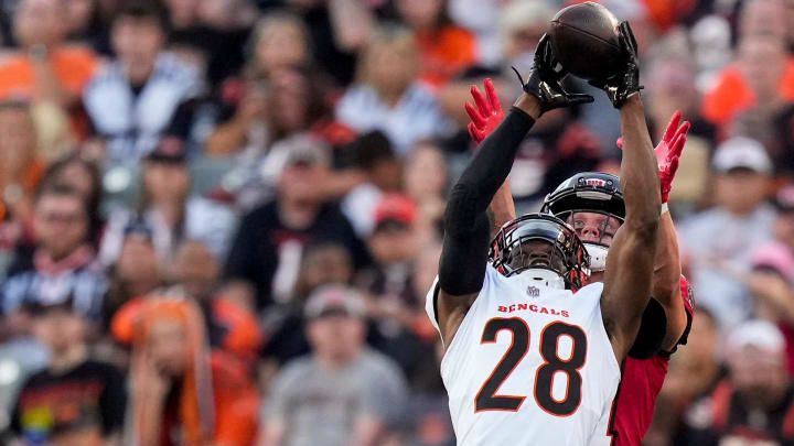
M121 373L88 358L88 320L76 302L34 303L33 331L51 351L47 368L23 384L11 421L24 444L120 445Z

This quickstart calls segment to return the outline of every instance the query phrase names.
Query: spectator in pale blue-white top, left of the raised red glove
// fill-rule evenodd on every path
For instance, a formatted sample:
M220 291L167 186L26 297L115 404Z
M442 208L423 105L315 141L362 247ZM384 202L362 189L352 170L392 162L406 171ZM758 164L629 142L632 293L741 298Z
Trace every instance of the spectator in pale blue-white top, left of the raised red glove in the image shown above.
M383 29L362 55L358 83L336 106L336 118L358 132L382 130L399 154L419 139L452 130L436 100L417 83L419 53L414 34Z

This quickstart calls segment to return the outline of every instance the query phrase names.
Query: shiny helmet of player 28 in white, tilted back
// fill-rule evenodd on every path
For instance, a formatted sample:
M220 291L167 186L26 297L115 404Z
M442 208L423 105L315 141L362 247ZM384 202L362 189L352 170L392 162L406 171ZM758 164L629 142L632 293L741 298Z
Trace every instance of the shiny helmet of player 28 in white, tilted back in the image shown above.
M583 286L590 258L573 228L550 214L528 214L505 224L491 242L489 258L505 276L549 270L569 290Z

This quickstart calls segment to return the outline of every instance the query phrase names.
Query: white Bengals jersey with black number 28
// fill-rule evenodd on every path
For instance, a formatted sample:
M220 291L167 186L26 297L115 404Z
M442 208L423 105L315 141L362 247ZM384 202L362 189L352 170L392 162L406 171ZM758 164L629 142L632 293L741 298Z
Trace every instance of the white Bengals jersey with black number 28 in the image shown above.
M487 266L441 361L458 445L586 446L621 379L601 283L571 293ZM437 283L426 309L436 318Z

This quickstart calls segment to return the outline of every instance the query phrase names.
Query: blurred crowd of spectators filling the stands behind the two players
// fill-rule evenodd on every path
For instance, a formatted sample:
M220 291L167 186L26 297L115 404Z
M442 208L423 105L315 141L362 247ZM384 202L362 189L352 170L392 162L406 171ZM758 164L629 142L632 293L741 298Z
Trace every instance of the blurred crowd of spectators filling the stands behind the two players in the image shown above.
M698 309L648 446L794 445L794 1L629 20ZM463 105L560 0L1 0L0 443L441 446L425 314ZM618 113L547 113L521 213L614 173Z

